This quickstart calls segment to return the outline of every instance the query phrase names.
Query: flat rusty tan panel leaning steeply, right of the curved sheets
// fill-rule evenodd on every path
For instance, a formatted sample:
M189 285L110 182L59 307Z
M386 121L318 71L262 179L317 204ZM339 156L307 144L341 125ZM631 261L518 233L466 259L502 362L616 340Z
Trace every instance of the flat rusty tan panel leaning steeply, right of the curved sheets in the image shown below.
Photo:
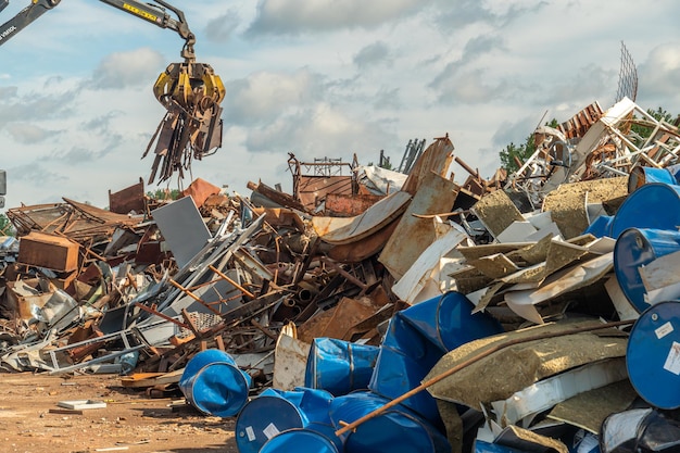
M450 212L457 196L456 185L429 173L380 253L380 261L394 278L401 278L436 239L431 219L412 214Z

